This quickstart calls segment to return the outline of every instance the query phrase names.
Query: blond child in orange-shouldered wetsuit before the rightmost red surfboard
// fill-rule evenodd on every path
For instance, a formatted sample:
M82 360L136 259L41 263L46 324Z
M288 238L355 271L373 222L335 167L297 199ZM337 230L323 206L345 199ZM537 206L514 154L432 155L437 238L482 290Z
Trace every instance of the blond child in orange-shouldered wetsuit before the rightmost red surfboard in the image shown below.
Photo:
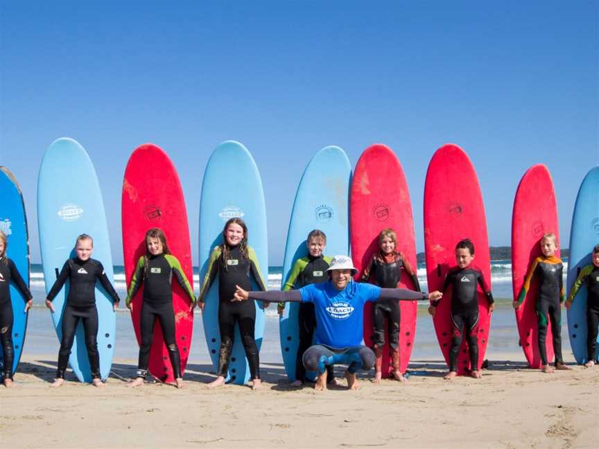
M539 279L539 297L537 297L537 324L539 326L539 355L541 356L541 371L553 373L553 368L547 360L545 337L547 335L547 317L551 322L553 333L553 352L555 353L555 369L570 369L562 359L562 302L564 302L564 280L562 259L555 256L557 238L555 234L545 234L541 238L542 256L535 258L530 266L522 290L513 306L517 310L522 306L526 292L530 289L533 278Z

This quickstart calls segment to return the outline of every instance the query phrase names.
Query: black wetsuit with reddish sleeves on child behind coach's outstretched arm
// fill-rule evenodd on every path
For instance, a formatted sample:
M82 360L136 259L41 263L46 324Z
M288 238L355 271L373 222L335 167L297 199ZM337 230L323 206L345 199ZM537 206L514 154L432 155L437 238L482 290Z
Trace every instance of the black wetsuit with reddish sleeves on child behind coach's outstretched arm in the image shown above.
M402 267L410 274L414 287L419 292L420 284L415 272L399 254L373 256L367 269L364 270L362 281L368 281L372 277L374 285L379 285L381 288L397 288L401 279ZM389 346L396 351L399 346L399 326L401 324L401 308L397 301L380 299L372 306L373 343L377 348L382 348L385 345L385 319L387 319Z

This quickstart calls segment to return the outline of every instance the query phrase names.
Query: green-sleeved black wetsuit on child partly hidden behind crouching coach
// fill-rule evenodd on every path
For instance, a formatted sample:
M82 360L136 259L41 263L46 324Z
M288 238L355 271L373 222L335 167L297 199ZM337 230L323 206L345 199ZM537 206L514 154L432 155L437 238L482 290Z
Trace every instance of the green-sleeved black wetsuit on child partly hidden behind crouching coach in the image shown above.
M283 291L299 289L305 285L321 283L329 280L327 268L331 264L331 258L328 256L311 256L308 254L295 261L293 270L289 273ZM314 315L313 303L299 303L297 312L297 321L299 324L299 344L297 345L297 357L295 360L295 379L305 381L306 368L302 362L304 352L312 346L314 329L316 328L316 317ZM327 366L327 382L335 380L333 365Z

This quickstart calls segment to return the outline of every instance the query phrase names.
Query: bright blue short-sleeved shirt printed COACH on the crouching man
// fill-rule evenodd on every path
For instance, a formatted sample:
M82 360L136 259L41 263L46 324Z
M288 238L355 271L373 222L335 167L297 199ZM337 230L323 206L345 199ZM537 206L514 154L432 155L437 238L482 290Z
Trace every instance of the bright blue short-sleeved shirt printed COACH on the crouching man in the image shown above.
M362 344L364 304L376 301L381 288L369 283L350 282L337 290L331 281L300 288L302 302L314 304L316 315L315 344L347 348Z

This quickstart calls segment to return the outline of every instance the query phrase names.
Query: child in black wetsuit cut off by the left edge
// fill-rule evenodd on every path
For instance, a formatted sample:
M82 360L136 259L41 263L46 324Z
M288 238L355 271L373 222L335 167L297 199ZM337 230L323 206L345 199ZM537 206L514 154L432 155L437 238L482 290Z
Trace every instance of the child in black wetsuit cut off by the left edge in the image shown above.
M12 364L14 363L15 349L12 346L12 324L14 315L12 301L10 300L10 281L17 285L25 299L25 312L33 304L33 297L21 277L15 263L6 256L8 239L3 231L0 231L0 340L2 343L3 367L1 376L5 387L12 387ZM20 309L19 309L20 310Z

